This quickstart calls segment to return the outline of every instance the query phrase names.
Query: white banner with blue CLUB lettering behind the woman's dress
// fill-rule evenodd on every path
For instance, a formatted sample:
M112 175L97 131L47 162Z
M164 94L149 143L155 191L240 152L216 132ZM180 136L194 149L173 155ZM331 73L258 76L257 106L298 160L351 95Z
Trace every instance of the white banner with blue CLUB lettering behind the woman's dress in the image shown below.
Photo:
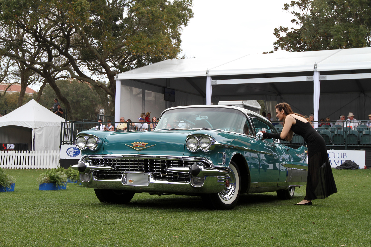
M364 150L327 150L332 168L340 166L345 160L355 162L359 168L365 168L366 151Z

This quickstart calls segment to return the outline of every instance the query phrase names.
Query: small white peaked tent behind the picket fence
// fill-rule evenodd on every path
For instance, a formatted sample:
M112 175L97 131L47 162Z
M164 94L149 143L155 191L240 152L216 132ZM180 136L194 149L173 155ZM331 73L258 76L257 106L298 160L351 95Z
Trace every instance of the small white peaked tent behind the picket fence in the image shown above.
M29 143L29 149L35 151L59 150L60 122L64 121L30 100L0 117L0 143Z

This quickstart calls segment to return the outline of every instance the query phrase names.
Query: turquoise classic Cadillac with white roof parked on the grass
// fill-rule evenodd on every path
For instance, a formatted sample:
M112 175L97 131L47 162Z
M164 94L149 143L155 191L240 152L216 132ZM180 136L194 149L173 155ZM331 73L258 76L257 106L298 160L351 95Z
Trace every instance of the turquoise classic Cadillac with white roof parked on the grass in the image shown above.
M142 192L201 196L221 210L232 209L241 193L277 191L291 199L306 184L306 147L262 140L262 128L276 133L240 107L173 107L153 131L79 133L82 157L73 168L108 203L128 203Z

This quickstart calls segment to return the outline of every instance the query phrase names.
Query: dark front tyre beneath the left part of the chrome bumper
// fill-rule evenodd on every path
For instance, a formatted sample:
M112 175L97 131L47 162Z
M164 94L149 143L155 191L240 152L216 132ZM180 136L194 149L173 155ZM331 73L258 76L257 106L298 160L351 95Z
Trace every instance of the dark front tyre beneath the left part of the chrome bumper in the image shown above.
M134 192L125 190L94 189L95 195L102 203L126 204L134 196Z

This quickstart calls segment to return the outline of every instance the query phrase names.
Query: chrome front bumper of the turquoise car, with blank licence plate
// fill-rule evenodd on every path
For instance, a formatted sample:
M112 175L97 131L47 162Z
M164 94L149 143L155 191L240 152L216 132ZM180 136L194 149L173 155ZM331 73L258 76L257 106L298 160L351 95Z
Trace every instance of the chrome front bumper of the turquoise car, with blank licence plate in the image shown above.
M121 178L100 178L95 177L93 172L115 171L116 167L93 164L89 160L91 157L93 156L83 157L78 165L72 166L73 169L80 172L82 185L88 188L128 190L137 193L209 194L222 191L225 188L226 179L229 177L228 168L206 167L205 163L207 164L207 162L203 160L204 163L196 162L191 167L167 167L164 169L169 172L188 174L189 181L160 180L156 179L154 173L142 171L125 171ZM196 159L196 157L193 159Z

